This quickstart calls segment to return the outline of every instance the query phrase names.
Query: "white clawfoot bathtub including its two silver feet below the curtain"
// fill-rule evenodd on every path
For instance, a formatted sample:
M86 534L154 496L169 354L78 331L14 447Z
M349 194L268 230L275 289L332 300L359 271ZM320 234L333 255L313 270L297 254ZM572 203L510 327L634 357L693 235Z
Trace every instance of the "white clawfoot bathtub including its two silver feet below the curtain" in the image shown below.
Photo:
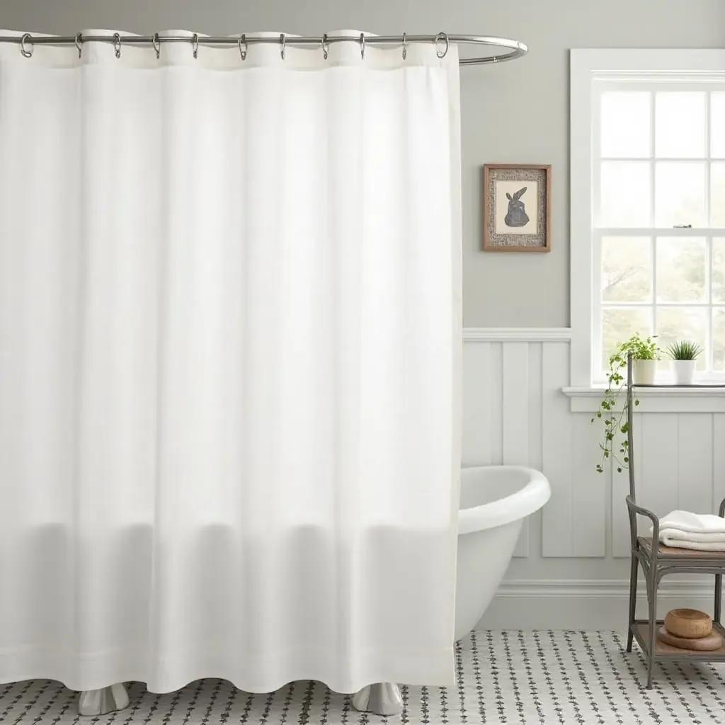
M519 465L463 468L460 474L455 640L481 620L503 579L524 518L549 500L543 473ZM364 687L352 698L360 711L395 715L402 710L397 684ZM81 715L98 716L128 705L121 684L82 692Z

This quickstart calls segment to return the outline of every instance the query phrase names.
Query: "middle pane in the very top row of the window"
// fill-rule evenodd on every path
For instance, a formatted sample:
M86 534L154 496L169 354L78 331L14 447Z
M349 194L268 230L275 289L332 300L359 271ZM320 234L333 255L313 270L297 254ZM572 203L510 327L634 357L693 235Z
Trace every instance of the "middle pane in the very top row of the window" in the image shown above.
M705 157L705 93L655 95L655 155L666 159Z

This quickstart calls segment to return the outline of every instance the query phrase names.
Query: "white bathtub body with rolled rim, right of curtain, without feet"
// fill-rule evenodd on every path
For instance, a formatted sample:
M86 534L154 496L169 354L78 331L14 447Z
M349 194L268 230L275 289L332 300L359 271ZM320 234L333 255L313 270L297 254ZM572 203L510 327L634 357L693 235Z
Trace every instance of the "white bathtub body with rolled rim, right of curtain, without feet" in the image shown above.
M549 500L543 473L520 465L463 468L458 511L455 639L473 629L508 568L521 523Z

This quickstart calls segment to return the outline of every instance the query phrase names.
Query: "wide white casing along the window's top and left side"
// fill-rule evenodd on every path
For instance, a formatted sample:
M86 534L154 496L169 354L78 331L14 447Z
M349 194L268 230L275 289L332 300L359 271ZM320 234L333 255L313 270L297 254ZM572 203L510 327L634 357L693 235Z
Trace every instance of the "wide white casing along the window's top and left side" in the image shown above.
M725 82L725 50L572 49L570 57L570 265L571 389L596 389L592 344L594 291L600 285L592 192L597 177L593 149L598 144L595 85L602 81L687 80ZM596 138L595 138L596 136ZM684 236L684 230L674 230Z

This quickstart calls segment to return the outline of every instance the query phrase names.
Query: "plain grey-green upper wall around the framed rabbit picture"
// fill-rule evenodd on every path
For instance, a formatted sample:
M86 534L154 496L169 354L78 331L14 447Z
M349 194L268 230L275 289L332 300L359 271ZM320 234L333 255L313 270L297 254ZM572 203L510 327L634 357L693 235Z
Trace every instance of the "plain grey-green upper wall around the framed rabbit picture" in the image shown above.
M463 69L464 324L569 324L568 49L721 47L724 0L0 0L0 28L499 35L529 56ZM481 165L552 165L552 252L479 252ZM574 240L585 244L586 240Z

